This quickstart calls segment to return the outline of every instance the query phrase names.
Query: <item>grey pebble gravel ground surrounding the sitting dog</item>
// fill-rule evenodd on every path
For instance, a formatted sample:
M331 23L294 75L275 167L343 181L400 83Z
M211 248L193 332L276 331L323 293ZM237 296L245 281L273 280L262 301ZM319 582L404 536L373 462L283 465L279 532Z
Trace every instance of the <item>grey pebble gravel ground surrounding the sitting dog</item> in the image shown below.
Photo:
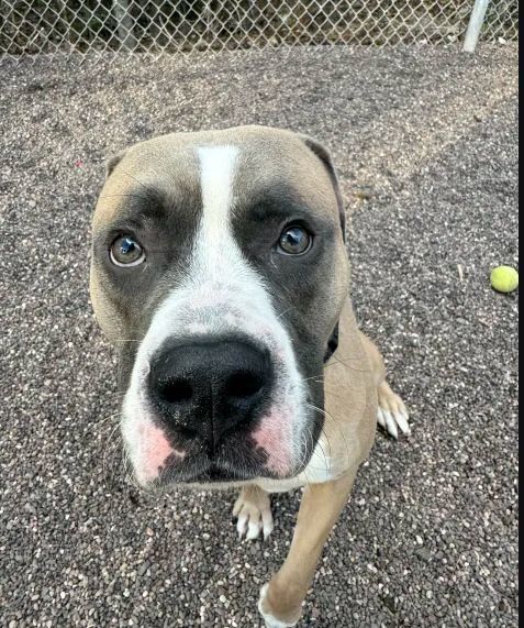
M239 544L232 494L124 478L114 360L88 302L107 155L265 123L331 145L364 329L413 434L380 433L303 626L516 626L516 46L267 51L0 68L0 625L259 626L299 493ZM462 280L458 267L462 267Z

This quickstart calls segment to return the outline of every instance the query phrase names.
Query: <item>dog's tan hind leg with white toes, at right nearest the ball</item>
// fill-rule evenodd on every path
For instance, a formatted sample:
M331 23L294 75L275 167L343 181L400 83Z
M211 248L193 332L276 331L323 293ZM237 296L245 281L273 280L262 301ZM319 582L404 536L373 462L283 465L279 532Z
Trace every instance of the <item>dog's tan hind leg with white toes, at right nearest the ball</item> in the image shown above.
M391 386L386 381L386 367L379 350L364 333L360 334L360 339L376 376L378 396L377 421L379 426L393 438L399 438L399 431L404 434L411 433L410 417L404 401L399 395L393 393Z

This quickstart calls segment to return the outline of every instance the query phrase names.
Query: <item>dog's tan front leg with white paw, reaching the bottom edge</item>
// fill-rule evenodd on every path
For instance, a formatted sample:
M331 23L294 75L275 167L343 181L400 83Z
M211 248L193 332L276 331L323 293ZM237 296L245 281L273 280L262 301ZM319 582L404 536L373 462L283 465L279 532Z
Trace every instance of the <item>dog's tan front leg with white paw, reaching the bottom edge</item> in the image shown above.
M294 626L326 539L352 492L357 469L304 489L286 562L260 592L258 609L267 628Z

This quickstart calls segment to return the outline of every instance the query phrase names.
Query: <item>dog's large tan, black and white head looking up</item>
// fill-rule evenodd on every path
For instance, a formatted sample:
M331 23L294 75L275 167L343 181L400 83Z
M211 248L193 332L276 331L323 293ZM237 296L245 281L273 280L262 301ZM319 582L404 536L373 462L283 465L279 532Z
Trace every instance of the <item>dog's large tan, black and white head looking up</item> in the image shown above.
M287 478L323 425L323 361L347 296L336 179L287 131L172 134L114 158L91 296L118 346L143 485Z

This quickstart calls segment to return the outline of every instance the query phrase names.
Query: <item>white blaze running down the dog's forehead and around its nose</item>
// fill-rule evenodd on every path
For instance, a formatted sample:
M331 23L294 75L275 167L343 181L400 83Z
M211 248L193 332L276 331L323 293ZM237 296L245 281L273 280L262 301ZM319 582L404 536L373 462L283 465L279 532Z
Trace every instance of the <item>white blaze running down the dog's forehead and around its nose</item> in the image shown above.
M124 401L123 433L132 461L137 458L134 452L141 451L140 422L149 416L144 387L150 356L167 338L188 338L198 334L198 330L216 337L241 332L269 349L277 365L276 393L268 420L263 418L255 440L258 437L257 442L271 441L268 431L277 421L279 445L268 452L268 466L285 472L286 464L294 464L300 456L305 429L305 389L291 341L261 277L244 257L232 231L238 153L235 146L198 148L202 218L190 263L181 282L153 317L138 348Z

